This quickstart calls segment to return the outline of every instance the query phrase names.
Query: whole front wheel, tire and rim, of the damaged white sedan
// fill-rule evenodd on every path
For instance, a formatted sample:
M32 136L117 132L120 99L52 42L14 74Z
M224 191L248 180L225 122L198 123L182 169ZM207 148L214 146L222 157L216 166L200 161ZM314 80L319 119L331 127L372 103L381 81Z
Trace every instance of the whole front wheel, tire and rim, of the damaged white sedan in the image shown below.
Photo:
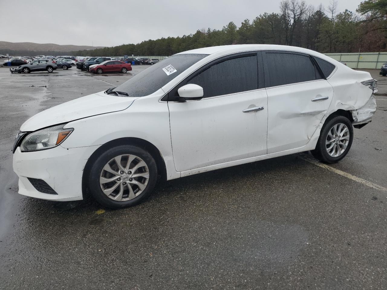
M101 205L124 208L145 200L156 179L156 162L149 152L132 145L120 145L106 150L94 161L88 185Z

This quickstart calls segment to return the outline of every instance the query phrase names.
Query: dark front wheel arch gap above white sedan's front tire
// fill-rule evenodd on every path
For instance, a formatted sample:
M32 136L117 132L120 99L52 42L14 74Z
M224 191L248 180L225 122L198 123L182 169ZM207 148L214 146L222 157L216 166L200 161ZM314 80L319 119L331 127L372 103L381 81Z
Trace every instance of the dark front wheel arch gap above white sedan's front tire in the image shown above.
M118 138L115 140L111 140L103 144L102 146L100 146L97 150L94 151L93 154L91 154L91 156L87 160L82 174L82 195L84 198L85 198L86 189L87 189L87 172L90 171L91 165L93 164L94 160L96 160L98 156L101 155L101 153L107 150L108 148L119 146L119 145L135 145L144 150L147 150L156 161L157 171L158 171L158 174L161 176L161 179L166 180L167 172L166 172L165 161L163 156L161 155L161 152L158 150L156 146L154 146L151 142L141 138L135 138L135 137Z

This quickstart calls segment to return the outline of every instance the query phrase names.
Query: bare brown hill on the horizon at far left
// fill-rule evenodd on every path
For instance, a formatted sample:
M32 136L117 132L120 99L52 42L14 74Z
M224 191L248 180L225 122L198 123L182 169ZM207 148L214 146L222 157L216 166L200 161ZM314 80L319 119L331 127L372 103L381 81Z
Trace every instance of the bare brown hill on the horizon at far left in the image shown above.
M0 41L0 49L9 50L27 50L27 51L77 51L84 49L103 48L104 46L87 45L59 45L55 43L33 43L33 42L7 42Z

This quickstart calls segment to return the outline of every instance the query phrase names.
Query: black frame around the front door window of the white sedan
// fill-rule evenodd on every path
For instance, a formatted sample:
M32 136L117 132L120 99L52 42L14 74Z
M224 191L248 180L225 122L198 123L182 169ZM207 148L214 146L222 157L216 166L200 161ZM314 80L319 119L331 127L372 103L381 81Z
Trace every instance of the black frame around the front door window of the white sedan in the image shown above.
M226 94L226 95L212 96L212 97L202 98L199 100L189 100L188 102L201 101L201 100L206 100L206 99L214 99L214 98L218 98L218 97L230 96L230 95L234 95L234 94L241 94L241 93L245 93L245 92L253 92L255 90L265 89L265 87L264 87L264 64L263 64L263 61L259 61L259 60L263 60L262 51L257 51L257 50L243 51L243 52L238 52L238 53L232 53L229 55L223 55L223 56L220 56L214 60L209 61L208 63L205 63L204 65L202 65L202 67L200 67L197 70L195 70L194 72L190 73L190 75L185 77L182 81L180 81L172 89L170 89L163 97L161 97L159 99L159 102L181 102L181 101L177 101L175 99L175 97L170 96L170 94L175 91L176 87L181 87L180 86L181 84L183 84L183 85L187 84L188 80L194 78L195 76L199 75L200 73L204 72L208 68L210 68L218 63L221 63L221 62L226 61L226 60L232 60L235 58L243 58L246 56L254 56L254 55L257 57L257 68L258 68L258 70L257 70L258 88L257 89L247 90L247 91L243 91L243 92L236 92L236 93L231 93L231 94Z

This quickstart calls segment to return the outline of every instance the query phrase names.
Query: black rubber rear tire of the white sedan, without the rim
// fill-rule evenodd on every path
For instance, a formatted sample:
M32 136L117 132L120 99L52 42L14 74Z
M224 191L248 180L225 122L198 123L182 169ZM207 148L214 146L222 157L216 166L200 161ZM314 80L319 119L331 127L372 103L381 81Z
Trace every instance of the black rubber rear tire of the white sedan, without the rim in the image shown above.
M328 133L332 129L332 127L339 123L342 123L347 126L349 131L349 140L344 152L342 152L341 155L337 157L332 157L327 152L325 141L327 140ZM336 116L333 118L329 118L327 119L327 121L325 121L325 124L321 129L320 137L319 137L319 140L317 141L316 148L315 150L311 150L310 152L316 159L319 159L321 162L336 163L341 159L343 159L348 154L348 151L352 146L352 141L353 141L353 126L351 121L349 121L349 119L344 116Z

